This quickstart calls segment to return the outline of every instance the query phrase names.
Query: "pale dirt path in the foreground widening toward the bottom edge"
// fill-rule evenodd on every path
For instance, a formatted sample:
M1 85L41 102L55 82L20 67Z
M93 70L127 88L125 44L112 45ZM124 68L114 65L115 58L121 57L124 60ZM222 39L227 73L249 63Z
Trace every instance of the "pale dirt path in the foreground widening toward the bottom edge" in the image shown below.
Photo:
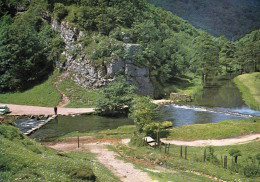
M91 137L80 138L80 148L77 148L77 142L62 142L47 146L62 151L90 151L97 154L97 160L106 166L115 176L123 182L153 182L146 172L136 169L132 163L117 159L119 156L113 151L109 151L106 145L118 144L120 141L95 141Z

